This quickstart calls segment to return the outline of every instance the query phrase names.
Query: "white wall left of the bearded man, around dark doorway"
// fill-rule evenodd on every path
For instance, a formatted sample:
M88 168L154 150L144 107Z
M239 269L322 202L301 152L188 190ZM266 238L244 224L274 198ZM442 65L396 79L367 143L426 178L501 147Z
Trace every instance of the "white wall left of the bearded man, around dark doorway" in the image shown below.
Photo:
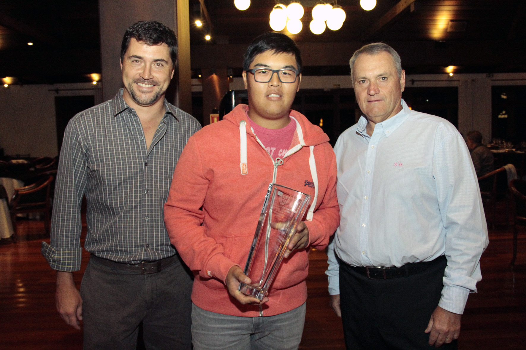
M58 154L55 96L78 95L95 95L95 104L102 102L100 84L0 87L0 148L6 155L55 157Z

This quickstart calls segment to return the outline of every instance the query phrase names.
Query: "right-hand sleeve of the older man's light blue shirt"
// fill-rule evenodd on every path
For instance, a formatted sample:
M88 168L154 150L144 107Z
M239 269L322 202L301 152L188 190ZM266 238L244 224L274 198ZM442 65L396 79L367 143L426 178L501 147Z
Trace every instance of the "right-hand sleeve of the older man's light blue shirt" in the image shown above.
M433 155L433 177L444 230L444 272L439 306L462 314L468 294L482 279L480 256L488 246L488 230L470 154L458 132L438 130ZM446 135L447 134L447 135Z

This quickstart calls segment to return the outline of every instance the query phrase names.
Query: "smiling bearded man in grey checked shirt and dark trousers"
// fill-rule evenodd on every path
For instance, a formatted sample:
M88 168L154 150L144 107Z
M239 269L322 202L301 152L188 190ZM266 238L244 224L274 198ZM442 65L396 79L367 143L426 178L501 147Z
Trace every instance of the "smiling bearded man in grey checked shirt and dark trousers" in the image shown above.
M175 165L200 129L165 100L174 75L173 30L137 22L126 30L124 89L68 123L57 174L51 244L42 253L57 270L56 305L80 330L84 348L190 349L191 274L170 245L163 221ZM85 249L91 257L80 292L80 207L87 202Z

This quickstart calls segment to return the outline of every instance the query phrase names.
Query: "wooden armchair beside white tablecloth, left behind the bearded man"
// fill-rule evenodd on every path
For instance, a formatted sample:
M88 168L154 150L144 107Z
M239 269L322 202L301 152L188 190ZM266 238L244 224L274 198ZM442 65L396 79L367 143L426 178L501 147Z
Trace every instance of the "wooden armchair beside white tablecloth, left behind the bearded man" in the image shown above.
M44 229L49 234L51 219L50 187L52 182L53 176L48 176L28 186L15 188L13 199L9 204L14 230L13 242L17 241L16 214L44 213Z

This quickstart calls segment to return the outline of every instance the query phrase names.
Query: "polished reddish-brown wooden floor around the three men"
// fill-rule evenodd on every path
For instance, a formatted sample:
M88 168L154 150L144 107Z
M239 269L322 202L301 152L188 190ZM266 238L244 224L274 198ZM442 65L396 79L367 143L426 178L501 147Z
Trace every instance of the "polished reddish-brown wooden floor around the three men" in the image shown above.
M501 220L503 221L503 220ZM40 253L42 222L18 223L19 242L0 241L0 349L80 349L82 332L66 326L55 310L55 274ZM481 259L483 280L462 317L459 348L526 348L526 234L519 235L517 265L510 266L511 227L490 231ZM83 255L83 269L88 254ZM344 349L340 319L329 307L327 256L312 251L309 298L300 349ZM75 274L79 284L82 272Z

